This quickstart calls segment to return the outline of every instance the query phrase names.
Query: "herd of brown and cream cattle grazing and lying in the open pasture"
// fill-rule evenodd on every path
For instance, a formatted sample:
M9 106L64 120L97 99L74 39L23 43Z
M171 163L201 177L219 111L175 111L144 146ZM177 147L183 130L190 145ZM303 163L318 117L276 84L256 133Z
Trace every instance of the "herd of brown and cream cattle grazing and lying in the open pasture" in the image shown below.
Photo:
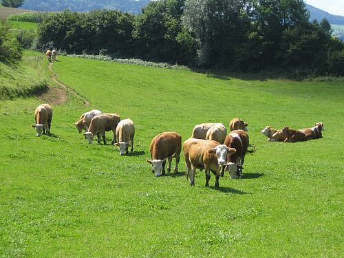
M48 104L39 105L34 111L36 136L50 134L52 122L52 107ZM135 126L131 119L120 120L118 114L103 114L99 110L92 110L81 115L74 123L79 133L85 130L85 138L92 143L100 136L106 144L105 131L112 131L111 144L118 147L120 155L128 153L129 147L133 151ZM193 128L191 138L182 144L182 137L174 132L164 132L155 136L151 141L152 172L156 176L165 175L165 164L168 161L167 172L171 171L171 161L175 158L175 173L178 172L180 153L183 149L186 163L186 175L191 186L195 185L195 171L205 171L206 186L209 186L211 172L215 175L215 187L219 187L219 177L224 176L228 170L230 178L239 178L242 173L246 153L253 153L255 147L249 142L247 131L248 124L239 118L230 121L230 133L222 123L204 123ZM312 128L294 130L283 127L281 130L264 128L261 133L268 137L268 141L297 142L321 138L324 129L322 122L317 122ZM251 147L251 149L249 149Z

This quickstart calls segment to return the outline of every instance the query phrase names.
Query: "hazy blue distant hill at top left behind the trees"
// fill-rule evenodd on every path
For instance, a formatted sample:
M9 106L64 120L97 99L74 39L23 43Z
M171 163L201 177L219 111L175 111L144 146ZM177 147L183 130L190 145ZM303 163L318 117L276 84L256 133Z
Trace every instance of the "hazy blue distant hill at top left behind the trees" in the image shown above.
M69 9L87 12L94 9L116 9L138 14L150 0L26 0L22 8L36 11L63 11Z

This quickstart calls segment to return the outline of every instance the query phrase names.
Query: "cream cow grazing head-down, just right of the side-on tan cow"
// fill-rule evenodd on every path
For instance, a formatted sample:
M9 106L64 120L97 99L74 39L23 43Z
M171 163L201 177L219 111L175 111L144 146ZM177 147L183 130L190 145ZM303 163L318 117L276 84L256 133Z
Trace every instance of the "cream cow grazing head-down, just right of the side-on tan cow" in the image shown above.
M133 137L135 136L135 127L131 119L124 119L118 122L116 127L116 138L118 142L115 146L118 146L120 155L128 154L128 147L131 142L131 151L133 151Z

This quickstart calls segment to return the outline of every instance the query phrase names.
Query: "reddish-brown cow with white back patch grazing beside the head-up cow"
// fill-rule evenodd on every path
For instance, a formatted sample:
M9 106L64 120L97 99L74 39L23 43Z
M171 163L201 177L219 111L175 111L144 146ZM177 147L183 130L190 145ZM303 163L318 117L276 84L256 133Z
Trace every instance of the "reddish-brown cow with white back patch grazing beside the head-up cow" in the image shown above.
M236 150L233 155L227 156L226 162L230 178L239 178L242 173L245 155L248 152L248 134L243 130L231 131L224 140L224 144L228 148L234 148ZM254 152L254 150L250 152ZM222 168L221 176L224 176L224 169L225 167Z

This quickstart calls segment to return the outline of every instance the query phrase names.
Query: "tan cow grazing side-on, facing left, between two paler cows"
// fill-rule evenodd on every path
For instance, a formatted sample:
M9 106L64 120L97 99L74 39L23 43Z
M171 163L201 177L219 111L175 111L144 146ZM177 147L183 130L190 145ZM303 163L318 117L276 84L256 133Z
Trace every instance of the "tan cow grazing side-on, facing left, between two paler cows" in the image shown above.
M94 136L98 138L98 143L100 143L100 136L103 137L104 145L107 144L105 138L105 131L112 131L114 137L112 138L112 144L116 142L116 127L120 122L120 116L118 114L100 114L94 116L89 125L88 131L83 133L86 136L88 143L92 143Z

